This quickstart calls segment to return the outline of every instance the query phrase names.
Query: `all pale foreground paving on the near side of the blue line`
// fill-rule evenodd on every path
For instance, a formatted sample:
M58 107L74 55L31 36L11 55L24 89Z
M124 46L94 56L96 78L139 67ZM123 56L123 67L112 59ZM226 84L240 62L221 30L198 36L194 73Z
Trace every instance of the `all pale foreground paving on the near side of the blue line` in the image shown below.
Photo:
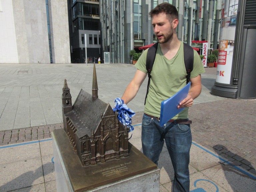
M137 132L133 133L131 142L141 139L140 129L141 125L135 126ZM141 149L141 144L138 149ZM24 156L13 158L15 151L19 151L16 155L24 153ZM13 159L12 162L6 162L0 156L0 162L3 162L0 171L4 173L0 174L0 191L56 191L51 139L0 146L0 153L5 153L7 159ZM255 191L256 175L233 166L227 159L222 161L217 153L208 152L194 142L190 153L190 191ZM160 192L171 192L174 172L168 151L161 153L158 167Z

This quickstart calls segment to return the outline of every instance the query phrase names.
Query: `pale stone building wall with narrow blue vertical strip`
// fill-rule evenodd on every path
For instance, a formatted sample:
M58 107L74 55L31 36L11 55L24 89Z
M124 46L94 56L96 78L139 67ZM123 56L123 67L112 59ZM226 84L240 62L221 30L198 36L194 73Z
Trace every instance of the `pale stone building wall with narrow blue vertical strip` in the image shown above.
M0 63L70 63L67 2L0 0Z

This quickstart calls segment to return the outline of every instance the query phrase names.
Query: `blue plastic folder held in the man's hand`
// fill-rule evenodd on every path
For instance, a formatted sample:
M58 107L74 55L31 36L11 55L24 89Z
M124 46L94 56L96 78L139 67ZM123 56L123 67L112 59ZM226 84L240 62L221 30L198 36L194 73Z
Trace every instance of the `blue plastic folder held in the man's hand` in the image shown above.
M162 127L175 115L180 113L185 108L178 109L179 103L188 96L188 91L190 88L191 82L189 82L185 87L179 90L172 97L161 102L161 111L160 111L160 126Z

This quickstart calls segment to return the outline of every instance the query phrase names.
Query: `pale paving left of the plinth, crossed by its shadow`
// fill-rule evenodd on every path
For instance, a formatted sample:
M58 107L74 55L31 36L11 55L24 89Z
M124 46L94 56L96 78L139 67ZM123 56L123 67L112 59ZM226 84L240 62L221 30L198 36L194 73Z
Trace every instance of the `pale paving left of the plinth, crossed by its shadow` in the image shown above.
M56 191L51 139L1 146L0 153L1 192Z

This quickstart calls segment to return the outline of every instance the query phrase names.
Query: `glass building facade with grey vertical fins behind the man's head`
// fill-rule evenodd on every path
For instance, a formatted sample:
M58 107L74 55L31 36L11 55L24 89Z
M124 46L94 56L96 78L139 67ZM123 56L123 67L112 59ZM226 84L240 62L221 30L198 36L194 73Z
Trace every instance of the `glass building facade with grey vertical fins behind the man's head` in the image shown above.
M156 42L148 13L158 4L168 2L179 12L179 40L202 48L218 48L221 0L106 0L100 1L103 52L111 63L130 63L129 52Z

